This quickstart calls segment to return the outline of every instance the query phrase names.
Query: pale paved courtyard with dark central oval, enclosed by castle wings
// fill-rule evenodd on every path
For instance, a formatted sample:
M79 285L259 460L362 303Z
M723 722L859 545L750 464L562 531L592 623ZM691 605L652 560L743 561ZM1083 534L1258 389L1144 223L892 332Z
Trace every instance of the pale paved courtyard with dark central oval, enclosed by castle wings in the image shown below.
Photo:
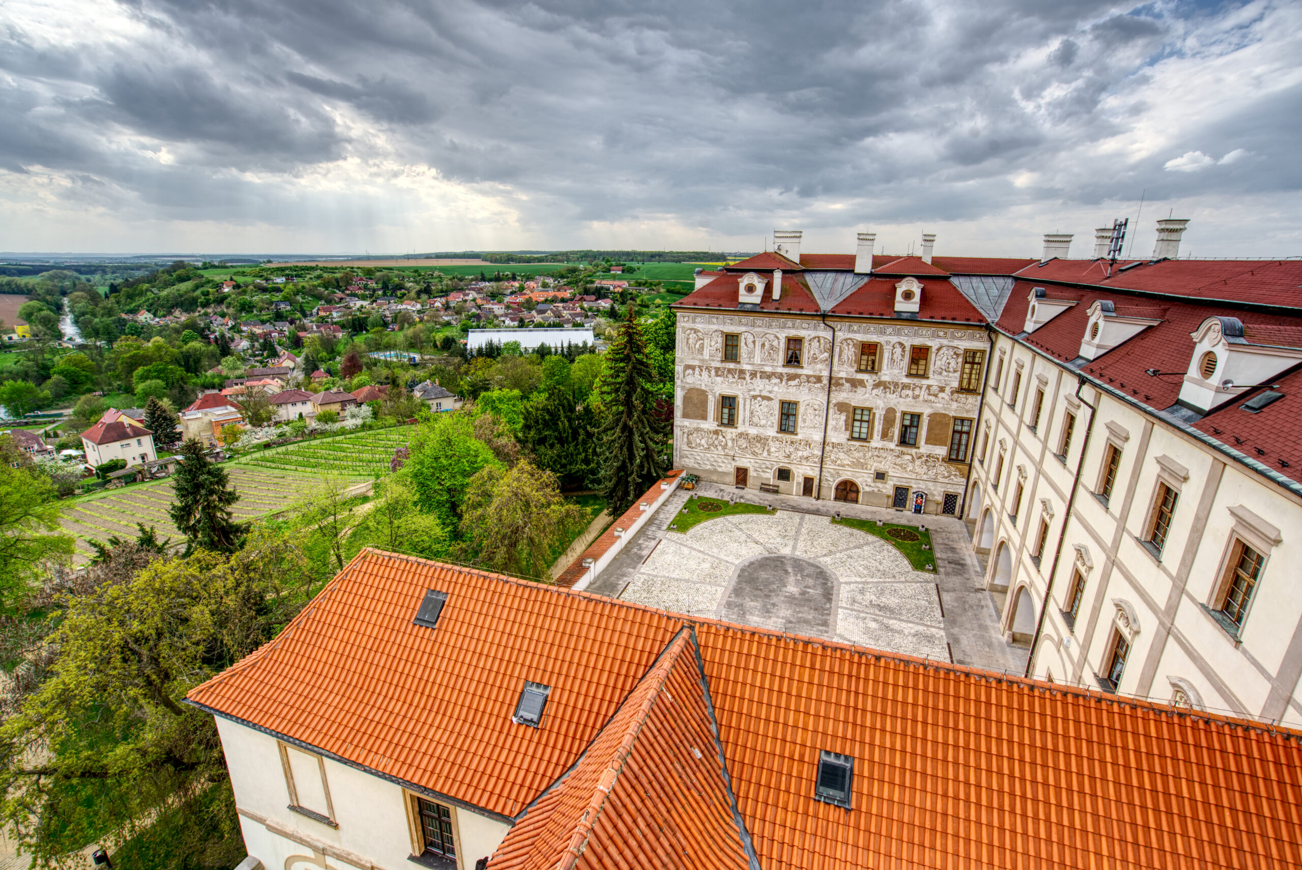
M694 496L762 507L673 529ZM835 522L837 513L862 525L926 526L932 557L910 564L889 540ZM967 530L952 517L700 483L674 492L587 591L940 662L1026 667L1027 651L999 632Z

